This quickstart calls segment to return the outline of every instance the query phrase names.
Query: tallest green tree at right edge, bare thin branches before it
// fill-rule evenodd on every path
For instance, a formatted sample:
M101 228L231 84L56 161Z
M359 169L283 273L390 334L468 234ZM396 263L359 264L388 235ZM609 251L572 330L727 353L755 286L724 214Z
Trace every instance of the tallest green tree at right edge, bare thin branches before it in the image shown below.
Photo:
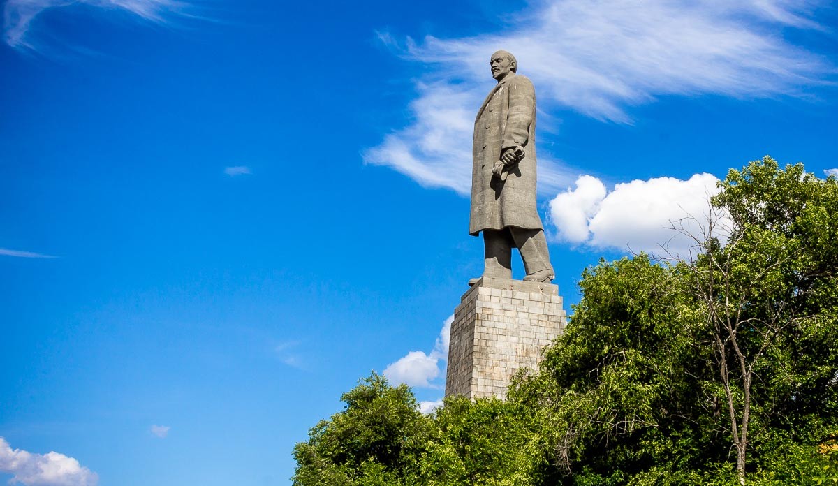
M780 169L769 157L731 170L712 199L732 220L727 241L716 240L711 221L697 240L701 256L682 262L704 308L742 484L754 420L762 432L777 427L776 418L799 416L801 406L817 413L827 405L834 416L828 388L838 350L835 182L815 178L802 164ZM800 359L809 363L801 366Z

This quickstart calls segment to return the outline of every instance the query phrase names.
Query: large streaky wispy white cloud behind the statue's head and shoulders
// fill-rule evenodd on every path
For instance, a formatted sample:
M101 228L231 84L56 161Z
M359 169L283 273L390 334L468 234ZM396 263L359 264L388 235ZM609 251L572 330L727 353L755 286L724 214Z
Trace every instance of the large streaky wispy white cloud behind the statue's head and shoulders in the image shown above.
M427 187L468 194L474 116L494 81L489 55L514 53L544 112L572 110L631 122L629 108L659 96L795 96L834 75L790 44L784 27L820 28L814 2L536 0L500 32L422 42L380 40L421 66L411 122L365 151L366 163L396 169ZM543 132L541 133L543 137ZM542 138L543 139L543 138ZM541 151L542 195L575 178Z

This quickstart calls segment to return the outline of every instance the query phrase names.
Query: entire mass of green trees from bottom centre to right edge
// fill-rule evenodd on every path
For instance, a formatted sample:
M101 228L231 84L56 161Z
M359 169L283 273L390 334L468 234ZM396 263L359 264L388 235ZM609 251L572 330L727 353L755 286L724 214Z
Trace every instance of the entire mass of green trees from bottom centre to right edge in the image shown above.
M587 269L507 401L424 416L374 374L294 484L838 483L838 180L763 158L721 187L696 258Z

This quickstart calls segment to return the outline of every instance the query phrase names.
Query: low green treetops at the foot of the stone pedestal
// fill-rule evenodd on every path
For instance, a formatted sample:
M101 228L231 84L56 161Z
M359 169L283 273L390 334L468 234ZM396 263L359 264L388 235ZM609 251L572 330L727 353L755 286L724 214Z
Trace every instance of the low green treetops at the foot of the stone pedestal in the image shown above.
M406 385L373 373L294 448L295 486L524 486L531 484L532 422L497 399L451 397L435 415L419 411Z

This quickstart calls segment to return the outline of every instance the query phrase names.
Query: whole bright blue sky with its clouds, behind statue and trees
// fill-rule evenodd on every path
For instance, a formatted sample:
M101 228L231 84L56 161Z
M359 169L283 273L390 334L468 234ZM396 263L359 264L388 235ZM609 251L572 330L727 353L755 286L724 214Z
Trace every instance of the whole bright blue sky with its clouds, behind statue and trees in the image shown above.
M832 3L2 5L0 481L289 484L370 370L432 406L496 49L566 304L729 168L838 168Z

